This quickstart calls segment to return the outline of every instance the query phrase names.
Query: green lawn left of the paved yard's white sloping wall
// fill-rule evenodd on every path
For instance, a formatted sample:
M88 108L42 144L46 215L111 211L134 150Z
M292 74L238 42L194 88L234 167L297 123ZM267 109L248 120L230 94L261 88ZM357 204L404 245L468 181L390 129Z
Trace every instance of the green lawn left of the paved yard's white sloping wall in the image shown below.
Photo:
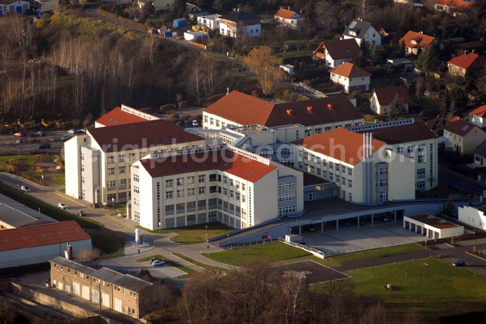
M208 258L226 264L241 265L251 259L266 259L269 262L287 261L309 257L311 253L283 242L272 242L239 249L209 253Z

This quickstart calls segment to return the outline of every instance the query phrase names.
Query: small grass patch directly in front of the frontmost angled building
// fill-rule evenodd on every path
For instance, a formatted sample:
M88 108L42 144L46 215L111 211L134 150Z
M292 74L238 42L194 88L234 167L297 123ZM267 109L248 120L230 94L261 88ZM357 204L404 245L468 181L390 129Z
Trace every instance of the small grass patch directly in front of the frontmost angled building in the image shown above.
M208 226L208 229L206 229L206 226ZM171 240L177 243L184 244L204 243L207 242L207 239L223 235L235 230L234 228L227 227L226 225L220 223L200 224L187 227L159 230L150 230L141 226L137 227L150 233L177 233L177 235L172 237Z

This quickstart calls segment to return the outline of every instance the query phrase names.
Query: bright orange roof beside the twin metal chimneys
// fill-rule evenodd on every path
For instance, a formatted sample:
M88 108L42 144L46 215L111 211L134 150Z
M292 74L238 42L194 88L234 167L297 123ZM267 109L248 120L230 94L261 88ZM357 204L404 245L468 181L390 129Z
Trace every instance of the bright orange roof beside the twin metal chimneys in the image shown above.
M344 128L304 137L292 143L352 165L363 160L363 135ZM373 152L384 145L385 142L373 139Z

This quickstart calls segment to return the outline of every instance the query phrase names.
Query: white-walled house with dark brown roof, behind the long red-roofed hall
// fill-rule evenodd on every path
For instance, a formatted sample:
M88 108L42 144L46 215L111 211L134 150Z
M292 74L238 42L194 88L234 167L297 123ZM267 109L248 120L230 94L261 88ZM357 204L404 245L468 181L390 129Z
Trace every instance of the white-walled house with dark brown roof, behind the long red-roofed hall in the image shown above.
M403 101L407 111L410 112L411 108L417 107L417 104L408 97L407 88L398 86L373 89L369 97L371 110L378 114L388 113L390 103L392 103L395 96L398 96Z

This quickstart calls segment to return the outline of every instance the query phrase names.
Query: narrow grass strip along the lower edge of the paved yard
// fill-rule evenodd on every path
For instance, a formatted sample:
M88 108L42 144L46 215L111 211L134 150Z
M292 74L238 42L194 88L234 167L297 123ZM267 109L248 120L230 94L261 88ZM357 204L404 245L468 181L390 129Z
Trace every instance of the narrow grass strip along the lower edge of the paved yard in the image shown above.
M418 244L404 244L392 247L383 247L380 249L365 250L360 252L352 252L340 254L334 257L329 257L324 260L323 264L328 266L338 266L351 264L366 260L376 260L386 257L398 256L402 254L409 254L414 252L424 251L425 248Z

